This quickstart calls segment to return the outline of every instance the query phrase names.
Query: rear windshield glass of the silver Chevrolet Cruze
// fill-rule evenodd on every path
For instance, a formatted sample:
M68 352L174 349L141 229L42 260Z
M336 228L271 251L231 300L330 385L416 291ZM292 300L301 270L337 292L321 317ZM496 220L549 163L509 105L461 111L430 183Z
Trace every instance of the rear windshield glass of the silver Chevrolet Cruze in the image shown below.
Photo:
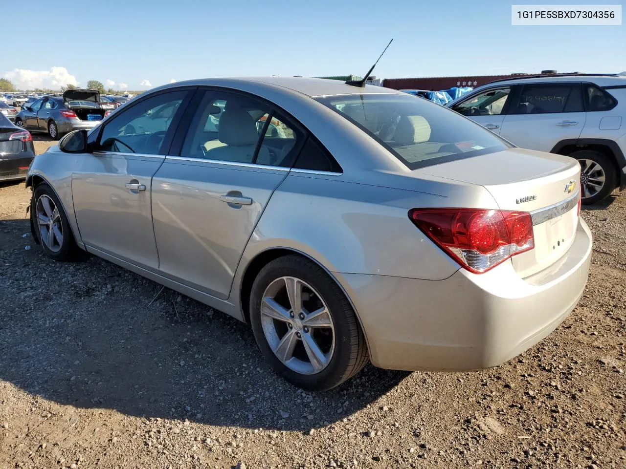
M479 124L408 94L349 94L316 100L372 136L410 169L510 148Z

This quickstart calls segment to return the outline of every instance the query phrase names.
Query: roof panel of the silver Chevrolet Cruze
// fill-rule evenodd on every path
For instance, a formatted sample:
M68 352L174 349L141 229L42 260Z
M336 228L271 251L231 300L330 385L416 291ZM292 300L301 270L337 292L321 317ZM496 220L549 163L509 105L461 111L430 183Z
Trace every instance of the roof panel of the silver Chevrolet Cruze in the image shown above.
M159 89L178 88L179 86L232 86L234 82L253 82L264 83L274 88L287 88L298 93L305 94L310 98L317 96L336 96L341 94L365 94L365 93L381 93L381 94L406 94L397 89L383 88L382 86L374 86L367 84L365 88L351 86L341 80L332 80L324 78L304 78L304 77L245 77L245 78L212 78L212 79L196 79L188 81L177 81L176 83L167 84L159 87Z

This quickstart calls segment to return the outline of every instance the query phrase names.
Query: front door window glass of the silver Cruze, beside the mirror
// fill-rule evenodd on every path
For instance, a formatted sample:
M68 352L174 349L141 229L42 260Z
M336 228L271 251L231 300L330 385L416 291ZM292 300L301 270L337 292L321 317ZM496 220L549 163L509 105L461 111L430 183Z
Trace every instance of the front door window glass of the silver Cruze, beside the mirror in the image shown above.
M96 148L119 153L161 154L165 135L187 91L157 94L106 123ZM167 107L167 114L160 110Z

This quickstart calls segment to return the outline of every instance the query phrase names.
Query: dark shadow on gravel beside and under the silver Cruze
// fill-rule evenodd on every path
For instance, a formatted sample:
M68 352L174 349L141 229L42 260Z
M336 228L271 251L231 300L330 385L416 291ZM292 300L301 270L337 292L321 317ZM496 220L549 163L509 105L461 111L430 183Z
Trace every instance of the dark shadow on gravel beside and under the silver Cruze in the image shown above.
M305 393L265 365L247 325L96 257L55 263L23 233L25 220L0 229L0 378L33 395L305 431L349 418L408 375L368 365L335 390Z

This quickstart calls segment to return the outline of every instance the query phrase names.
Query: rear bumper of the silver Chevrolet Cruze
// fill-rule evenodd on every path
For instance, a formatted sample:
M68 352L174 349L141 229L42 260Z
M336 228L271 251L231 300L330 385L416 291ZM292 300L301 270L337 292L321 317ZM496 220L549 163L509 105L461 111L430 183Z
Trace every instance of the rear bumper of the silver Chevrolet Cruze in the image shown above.
M510 262L446 280L344 274L372 363L395 370L469 371L500 365L569 315L587 283L592 235L581 219L570 250L521 279Z

